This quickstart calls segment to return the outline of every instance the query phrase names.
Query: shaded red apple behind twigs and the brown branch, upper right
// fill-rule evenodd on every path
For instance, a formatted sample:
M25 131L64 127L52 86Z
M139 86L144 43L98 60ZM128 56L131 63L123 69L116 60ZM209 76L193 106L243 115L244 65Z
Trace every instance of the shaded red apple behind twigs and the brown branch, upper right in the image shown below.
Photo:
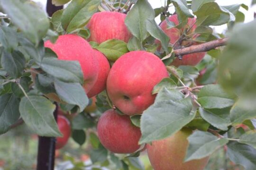
M178 16L177 15L172 15L171 17L168 17L169 21L174 22L175 25L179 24L179 20L178 20ZM192 28L190 29L190 31L187 34L193 34L195 29L196 29L196 25L194 24L196 22L196 18L189 18L188 19L188 23L186 28L190 29L190 27L192 26ZM172 45L174 45L174 43L180 38L180 36L183 34L183 29L179 30L177 28L170 28L167 29L167 23L166 21L163 21L160 24L160 27L162 28L162 30L165 32L165 34L168 35L168 37L170 38L170 43ZM198 36L198 34L193 34L192 39L196 38ZM159 43L158 41L156 43ZM184 40L182 42L182 45L185 46L187 44L189 44L190 42ZM193 45L195 45L196 43L193 43ZM190 65L190 66L195 66L197 65L205 56L205 52L198 52L198 53L192 53L192 54L187 54L184 55L182 57L182 60L179 60L178 58L175 58L174 61L171 63L171 65L178 67L180 65Z

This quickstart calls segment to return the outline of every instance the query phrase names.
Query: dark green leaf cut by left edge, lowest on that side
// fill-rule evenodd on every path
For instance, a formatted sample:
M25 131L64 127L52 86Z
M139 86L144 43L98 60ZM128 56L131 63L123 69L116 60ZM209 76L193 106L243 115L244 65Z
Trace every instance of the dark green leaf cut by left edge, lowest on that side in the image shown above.
M0 134L7 132L19 118L19 99L14 94L0 96Z

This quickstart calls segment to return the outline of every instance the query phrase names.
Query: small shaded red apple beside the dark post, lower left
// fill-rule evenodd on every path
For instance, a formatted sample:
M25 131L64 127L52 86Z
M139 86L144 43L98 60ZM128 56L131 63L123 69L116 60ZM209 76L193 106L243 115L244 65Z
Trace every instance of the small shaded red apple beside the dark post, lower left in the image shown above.
M64 145L67 143L67 141L71 135L71 128L70 128L69 120L66 117L64 117L63 115L58 115L57 124L58 124L59 130L63 136L56 138L55 149L60 149L60 148L64 147Z

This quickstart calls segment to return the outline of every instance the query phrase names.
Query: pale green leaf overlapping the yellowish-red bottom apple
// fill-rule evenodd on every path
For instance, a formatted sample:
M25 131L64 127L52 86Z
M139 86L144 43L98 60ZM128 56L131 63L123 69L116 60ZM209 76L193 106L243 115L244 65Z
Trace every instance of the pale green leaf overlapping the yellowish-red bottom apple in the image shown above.
M218 148L229 142L227 138L218 138L209 132L195 131L188 137L189 146L185 161L201 159L209 156Z

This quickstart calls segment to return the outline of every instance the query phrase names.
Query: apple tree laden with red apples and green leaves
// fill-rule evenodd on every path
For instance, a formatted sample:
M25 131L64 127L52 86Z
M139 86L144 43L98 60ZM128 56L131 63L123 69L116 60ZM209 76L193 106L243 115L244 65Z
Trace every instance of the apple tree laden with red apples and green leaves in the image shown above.
M32 0L0 0L0 134L25 123L57 137L57 149L69 136L89 141L95 169L143 170L146 149L155 170L203 170L225 147L256 170L256 21L241 12L250 7L52 4L66 8L48 17ZM225 34L212 27L221 25Z

